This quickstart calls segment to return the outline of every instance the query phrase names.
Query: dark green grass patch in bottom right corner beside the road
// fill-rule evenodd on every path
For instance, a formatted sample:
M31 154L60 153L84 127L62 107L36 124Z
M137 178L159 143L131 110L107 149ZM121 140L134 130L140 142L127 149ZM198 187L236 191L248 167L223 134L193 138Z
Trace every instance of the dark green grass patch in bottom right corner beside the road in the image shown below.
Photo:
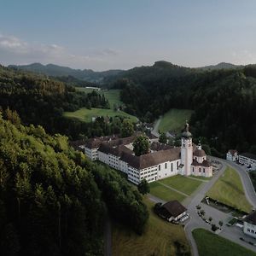
M199 256L256 256L256 253L239 244L213 234L211 231L192 231Z

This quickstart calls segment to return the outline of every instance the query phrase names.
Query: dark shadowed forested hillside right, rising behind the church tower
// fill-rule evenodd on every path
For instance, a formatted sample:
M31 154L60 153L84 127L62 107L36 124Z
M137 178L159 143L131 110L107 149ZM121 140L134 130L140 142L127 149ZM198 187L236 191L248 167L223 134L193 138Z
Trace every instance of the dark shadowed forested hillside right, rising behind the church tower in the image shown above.
M256 67L202 71L165 61L111 82L123 88L126 111L154 121L170 108L193 109L191 129L214 154L229 148L256 153Z

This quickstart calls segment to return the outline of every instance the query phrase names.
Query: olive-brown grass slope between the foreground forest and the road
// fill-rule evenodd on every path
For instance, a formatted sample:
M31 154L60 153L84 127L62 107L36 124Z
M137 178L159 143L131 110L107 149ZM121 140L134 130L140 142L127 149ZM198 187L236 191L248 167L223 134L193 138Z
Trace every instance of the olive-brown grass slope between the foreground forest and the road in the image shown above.
M113 224L112 253L113 256L149 256L149 255L190 255L188 241L181 225L170 224L154 214L154 203L144 199L150 216L143 236L137 236L124 226ZM178 241L184 247L183 252L177 252L174 242ZM179 253L179 254L178 254ZM186 254L185 254L186 253Z

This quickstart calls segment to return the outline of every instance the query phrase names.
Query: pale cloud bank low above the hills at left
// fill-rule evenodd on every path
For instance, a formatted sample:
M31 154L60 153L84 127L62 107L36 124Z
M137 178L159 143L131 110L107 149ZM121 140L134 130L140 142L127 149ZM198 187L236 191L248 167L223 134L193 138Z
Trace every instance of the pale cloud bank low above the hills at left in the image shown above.
M0 34L0 62L4 65L42 62L98 69L107 67L109 58L117 55L119 51L115 49L94 49L86 55L75 55L58 44L28 43L14 36Z

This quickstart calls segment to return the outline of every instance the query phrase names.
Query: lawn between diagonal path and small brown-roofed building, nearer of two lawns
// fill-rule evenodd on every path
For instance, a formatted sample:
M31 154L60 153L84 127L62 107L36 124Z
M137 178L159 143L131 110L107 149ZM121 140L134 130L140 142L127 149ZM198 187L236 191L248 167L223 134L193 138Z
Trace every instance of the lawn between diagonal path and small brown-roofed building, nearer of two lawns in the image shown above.
M149 183L149 185L150 185L150 194L164 201L177 200L181 202L186 197L182 194L177 193L176 191L173 191L172 189L166 188L165 186L163 186L158 182Z

